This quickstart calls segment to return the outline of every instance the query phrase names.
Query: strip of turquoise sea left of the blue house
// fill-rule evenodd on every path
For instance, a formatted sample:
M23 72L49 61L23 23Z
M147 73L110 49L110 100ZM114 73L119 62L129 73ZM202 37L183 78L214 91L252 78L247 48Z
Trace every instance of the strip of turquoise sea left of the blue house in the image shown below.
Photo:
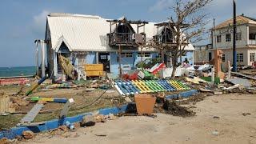
M0 67L0 77L28 76L36 74L36 66Z

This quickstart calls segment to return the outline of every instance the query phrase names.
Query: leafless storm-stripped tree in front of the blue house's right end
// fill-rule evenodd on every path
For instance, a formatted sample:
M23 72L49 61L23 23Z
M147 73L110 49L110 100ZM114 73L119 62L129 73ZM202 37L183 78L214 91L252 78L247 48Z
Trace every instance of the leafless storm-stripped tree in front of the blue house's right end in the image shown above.
M167 22L159 23L158 26L166 26L173 35L172 42L159 42L153 38L147 45L165 52L172 59L173 72L178 67L178 58L182 62L182 54L185 54L185 47L189 43L200 42L209 31L206 30L208 14L203 8L213 0L174 0L175 6L170 7L170 17Z

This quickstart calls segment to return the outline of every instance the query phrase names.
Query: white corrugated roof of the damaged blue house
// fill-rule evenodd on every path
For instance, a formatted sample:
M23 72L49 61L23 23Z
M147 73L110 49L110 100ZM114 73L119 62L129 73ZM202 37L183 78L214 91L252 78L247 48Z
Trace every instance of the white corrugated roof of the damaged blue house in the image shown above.
M106 20L92 15L50 14L47 16L47 27L50 29L52 48L58 50L59 43L65 42L72 51L112 51L106 35L110 33L110 22ZM137 32L137 25L131 26ZM149 22L145 28L140 27L139 33L144 29L147 40L157 34L154 22ZM194 50L191 46L187 46L188 50Z

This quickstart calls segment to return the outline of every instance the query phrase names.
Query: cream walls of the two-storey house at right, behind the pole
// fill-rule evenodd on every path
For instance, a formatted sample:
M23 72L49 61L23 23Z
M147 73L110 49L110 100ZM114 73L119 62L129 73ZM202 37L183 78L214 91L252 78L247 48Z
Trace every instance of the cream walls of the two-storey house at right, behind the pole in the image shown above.
M256 26L241 25L237 26L237 35L241 34L241 38L236 40L237 54L242 54L238 60L238 66L252 66L251 53L256 54L256 40L250 38L250 34L256 33ZM230 42L226 42L226 34L230 34ZM218 40L220 38L220 41ZM219 30L213 30L213 49L219 49L225 54L225 62L233 62L233 27L226 27ZM256 57L256 55L255 55ZM242 62L241 62L242 61ZM256 59L254 59L256 61Z

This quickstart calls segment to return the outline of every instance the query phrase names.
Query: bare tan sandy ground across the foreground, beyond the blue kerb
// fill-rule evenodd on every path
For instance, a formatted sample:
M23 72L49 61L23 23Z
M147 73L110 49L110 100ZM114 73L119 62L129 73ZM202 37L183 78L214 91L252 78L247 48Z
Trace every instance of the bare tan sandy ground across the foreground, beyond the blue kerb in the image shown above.
M256 95L211 96L193 110L190 118L121 117L68 132L68 138L46 133L26 143L256 143Z

